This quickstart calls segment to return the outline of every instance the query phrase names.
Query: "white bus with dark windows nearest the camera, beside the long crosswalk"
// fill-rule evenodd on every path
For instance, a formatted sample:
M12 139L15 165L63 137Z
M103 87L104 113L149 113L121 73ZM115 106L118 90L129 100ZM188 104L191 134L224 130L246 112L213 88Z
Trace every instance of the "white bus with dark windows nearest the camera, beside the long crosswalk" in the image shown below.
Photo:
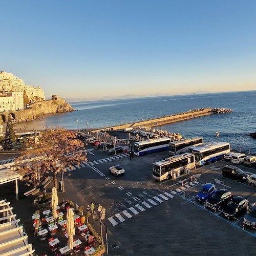
M153 163L153 178L156 180L171 179L195 168L195 156L191 153L175 155Z

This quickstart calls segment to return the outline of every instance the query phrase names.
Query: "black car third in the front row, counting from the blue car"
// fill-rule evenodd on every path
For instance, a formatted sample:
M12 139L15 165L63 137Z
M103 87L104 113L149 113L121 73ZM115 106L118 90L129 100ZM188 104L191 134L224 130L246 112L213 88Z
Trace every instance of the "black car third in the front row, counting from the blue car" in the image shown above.
M235 196L222 208L222 214L226 218L234 218L249 209L249 201L243 197Z

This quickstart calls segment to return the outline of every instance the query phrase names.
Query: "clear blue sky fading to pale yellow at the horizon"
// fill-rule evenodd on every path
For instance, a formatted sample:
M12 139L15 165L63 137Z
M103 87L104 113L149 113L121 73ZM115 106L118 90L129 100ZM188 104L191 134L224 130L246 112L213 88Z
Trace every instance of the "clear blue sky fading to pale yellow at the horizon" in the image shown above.
M256 89L256 1L1 1L0 70L46 97Z

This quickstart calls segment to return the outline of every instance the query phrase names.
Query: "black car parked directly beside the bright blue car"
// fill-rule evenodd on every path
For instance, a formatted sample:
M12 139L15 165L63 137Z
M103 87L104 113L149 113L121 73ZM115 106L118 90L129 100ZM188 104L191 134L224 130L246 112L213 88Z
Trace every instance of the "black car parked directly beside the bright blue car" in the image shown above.
M226 205L233 197L233 194L225 188L222 188L214 193L209 199L206 200L205 205L213 210Z

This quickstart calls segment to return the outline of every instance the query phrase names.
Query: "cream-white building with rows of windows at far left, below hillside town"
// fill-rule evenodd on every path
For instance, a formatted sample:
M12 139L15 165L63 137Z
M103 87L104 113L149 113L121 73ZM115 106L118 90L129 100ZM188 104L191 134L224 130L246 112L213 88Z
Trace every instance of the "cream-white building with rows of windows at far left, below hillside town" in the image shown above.
M24 109L23 92L9 92L0 95L0 112Z

